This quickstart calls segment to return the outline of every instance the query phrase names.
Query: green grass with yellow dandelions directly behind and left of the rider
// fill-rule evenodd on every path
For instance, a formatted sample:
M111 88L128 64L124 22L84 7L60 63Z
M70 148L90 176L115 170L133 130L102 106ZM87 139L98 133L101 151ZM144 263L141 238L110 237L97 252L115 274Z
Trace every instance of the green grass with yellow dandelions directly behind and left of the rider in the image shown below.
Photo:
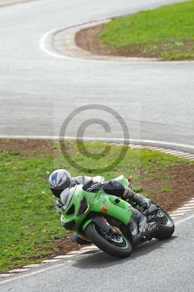
M86 143L85 146L90 152L99 153L105 144ZM60 151L54 160L52 154L44 154L42 150L24 156L20 156L21 151L0 152L0 273L52 255L57 250L52 241L66 235L47 183L53 168L67 168L72 176L94 176L99 173L92 168L109 164L121 149L121 146L112 146L104 159L93 160L80 155L74 143L68 147L75 162L89 168L88 173L69 165ZM53 148L56 152L58 146ZM186 162L164 153L129 149L125 159L103 175L106 180L121 174L138 179L140 169L149 174L182 163Z

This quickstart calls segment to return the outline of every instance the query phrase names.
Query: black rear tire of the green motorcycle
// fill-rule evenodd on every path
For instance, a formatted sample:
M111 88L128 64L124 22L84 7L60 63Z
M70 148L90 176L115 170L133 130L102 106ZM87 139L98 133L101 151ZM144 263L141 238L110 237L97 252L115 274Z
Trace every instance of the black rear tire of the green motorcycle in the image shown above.
M158 223L158 232L155 238L159 240L171 237L175 231L175 224L173 219L165 210L161 209L161 211L164 214L167 223L166 224Z

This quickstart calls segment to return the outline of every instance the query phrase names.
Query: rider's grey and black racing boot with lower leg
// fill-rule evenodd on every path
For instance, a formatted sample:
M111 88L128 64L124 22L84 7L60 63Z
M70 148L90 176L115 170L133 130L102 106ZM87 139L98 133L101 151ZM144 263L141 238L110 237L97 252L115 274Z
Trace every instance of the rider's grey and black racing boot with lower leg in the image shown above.
M145 209L148 209L151 205L150 200L143 197L140 194L137 194L136 192L132 191L130 188L126 187L125 191L123 193L123 198L133 201L134 203L137 203L139 206L143 206Z

